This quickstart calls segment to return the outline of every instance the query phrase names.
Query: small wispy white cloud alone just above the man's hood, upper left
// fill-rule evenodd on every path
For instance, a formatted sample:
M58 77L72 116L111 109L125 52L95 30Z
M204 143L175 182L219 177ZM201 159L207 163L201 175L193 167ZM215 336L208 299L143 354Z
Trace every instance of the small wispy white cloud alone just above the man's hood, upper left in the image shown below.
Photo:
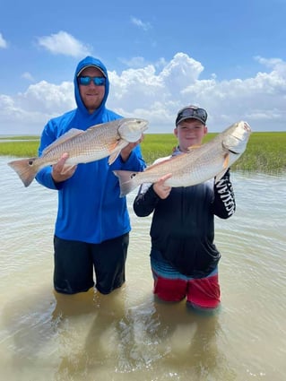
M55 55L81 57L91 54L91 49L87 45L82 44L81 41L74 39L71 34L63 30L50 36L39 37L38 43L39 46Z

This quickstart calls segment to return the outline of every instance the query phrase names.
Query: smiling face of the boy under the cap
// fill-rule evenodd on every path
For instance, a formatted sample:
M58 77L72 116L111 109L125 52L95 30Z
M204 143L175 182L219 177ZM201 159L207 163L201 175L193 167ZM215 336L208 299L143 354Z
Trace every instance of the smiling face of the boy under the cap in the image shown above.
M187 152L188 147L200 145L203 142L207 127L197 119L185 119L175 129L180 151Z

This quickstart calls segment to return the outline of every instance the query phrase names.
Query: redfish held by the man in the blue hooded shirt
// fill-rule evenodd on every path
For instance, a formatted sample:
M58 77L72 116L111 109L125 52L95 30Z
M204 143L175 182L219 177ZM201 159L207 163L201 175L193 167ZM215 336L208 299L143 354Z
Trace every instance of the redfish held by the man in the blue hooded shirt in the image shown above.
M66 167L108 156L111 164L128 143L141 138L147 126L148 121L144 119L122 118L91 126L85 131L72 128L48 145L40 157L13 160L8 165L17 172L24 186L30 186L40 169L56 164L65 152L69 155Z

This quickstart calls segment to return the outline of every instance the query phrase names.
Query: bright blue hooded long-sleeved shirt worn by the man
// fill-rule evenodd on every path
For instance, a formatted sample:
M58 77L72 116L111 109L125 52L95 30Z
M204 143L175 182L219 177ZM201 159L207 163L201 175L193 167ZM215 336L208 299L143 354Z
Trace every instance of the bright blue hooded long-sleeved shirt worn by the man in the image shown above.
M97 66L106 76L104 98L100 107L92 114L82 102L77 80L77 74L88 65ZM39 156L49 144L71 128L86 130L91 126L122 118L106 108L108 92L109 80L105 65L96 58L85 57L77 65L74 74L74 97L77 108L48 121L41 134ZM129 232L131 226L126 197L119 197L118 179L112 171L115 169L141 171L144 168L140 147L136 146L126 162L123 162L119 155L111 165L108 165L108 158L78 164L74 176L61 183L54 182L51 177L51 167L41 169L36 177L39 184L58 191L56 237L97 244Z

